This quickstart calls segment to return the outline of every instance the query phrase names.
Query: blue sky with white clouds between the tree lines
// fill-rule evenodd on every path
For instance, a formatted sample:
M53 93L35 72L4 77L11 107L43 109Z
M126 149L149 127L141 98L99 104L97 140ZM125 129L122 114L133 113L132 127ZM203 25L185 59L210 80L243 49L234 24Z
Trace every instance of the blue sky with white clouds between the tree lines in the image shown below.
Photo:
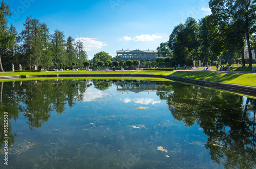
M105 51L156 50L167 42L175 26L187 17L196 20L210 14L207 0L5 0L18 33L28 16L45 22L76 41L82 41L88 58Z

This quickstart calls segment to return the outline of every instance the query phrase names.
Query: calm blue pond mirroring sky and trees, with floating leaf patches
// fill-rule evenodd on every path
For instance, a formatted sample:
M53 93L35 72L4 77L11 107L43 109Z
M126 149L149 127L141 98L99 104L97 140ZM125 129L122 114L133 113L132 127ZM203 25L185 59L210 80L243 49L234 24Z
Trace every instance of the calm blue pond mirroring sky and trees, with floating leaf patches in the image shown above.
M127 78L0 85L1 168L256 167L254 97Z

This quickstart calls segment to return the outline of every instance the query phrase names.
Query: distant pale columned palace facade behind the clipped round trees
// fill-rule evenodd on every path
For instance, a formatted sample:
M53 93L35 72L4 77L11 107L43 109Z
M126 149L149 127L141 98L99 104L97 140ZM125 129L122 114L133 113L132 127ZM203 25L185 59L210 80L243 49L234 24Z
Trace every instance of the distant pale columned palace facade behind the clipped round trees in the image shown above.
M151 61L154 62L157 60L158 58L158 54L157 54L157 50L117 50L117 59L115 59L116 61L127 61L127 60L138 60L141 63L142 62L147 62L147 61Z

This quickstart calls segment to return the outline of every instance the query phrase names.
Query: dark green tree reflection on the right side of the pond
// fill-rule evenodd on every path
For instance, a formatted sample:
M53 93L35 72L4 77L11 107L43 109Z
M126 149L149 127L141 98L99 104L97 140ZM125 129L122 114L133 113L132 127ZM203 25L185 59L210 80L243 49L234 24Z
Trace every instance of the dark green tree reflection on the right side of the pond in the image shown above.
M162 83L159 90L175 119L203 128L212 160L225 168L255 167L255 99L247 98L243 105L242 96L181 83Z

